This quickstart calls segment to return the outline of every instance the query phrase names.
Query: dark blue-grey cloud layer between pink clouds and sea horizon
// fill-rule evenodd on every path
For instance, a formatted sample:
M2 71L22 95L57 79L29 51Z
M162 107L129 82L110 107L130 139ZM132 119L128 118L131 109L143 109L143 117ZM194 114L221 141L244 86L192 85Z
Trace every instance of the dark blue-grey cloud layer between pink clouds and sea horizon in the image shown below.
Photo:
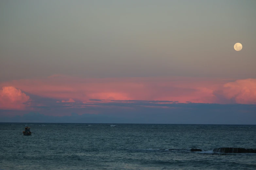
M0 111L0 119L1 122L256 124L255 105L140 105L142 103L133 103L132 106L131 103L101 103L98 106L65 109L60 109L61 105L55 106L58 109L38 106L42 110L23 116L7 117ZM60 116L53 116L56 114Z

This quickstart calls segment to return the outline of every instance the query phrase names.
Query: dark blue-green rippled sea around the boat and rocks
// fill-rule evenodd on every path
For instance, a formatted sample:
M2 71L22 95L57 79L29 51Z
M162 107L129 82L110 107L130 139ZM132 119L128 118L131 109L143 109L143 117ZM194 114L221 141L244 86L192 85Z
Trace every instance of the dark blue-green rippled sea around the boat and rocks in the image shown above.
M213 152L256 148L256 125L29 124L0 123L0 169L256 169L255 153Z

